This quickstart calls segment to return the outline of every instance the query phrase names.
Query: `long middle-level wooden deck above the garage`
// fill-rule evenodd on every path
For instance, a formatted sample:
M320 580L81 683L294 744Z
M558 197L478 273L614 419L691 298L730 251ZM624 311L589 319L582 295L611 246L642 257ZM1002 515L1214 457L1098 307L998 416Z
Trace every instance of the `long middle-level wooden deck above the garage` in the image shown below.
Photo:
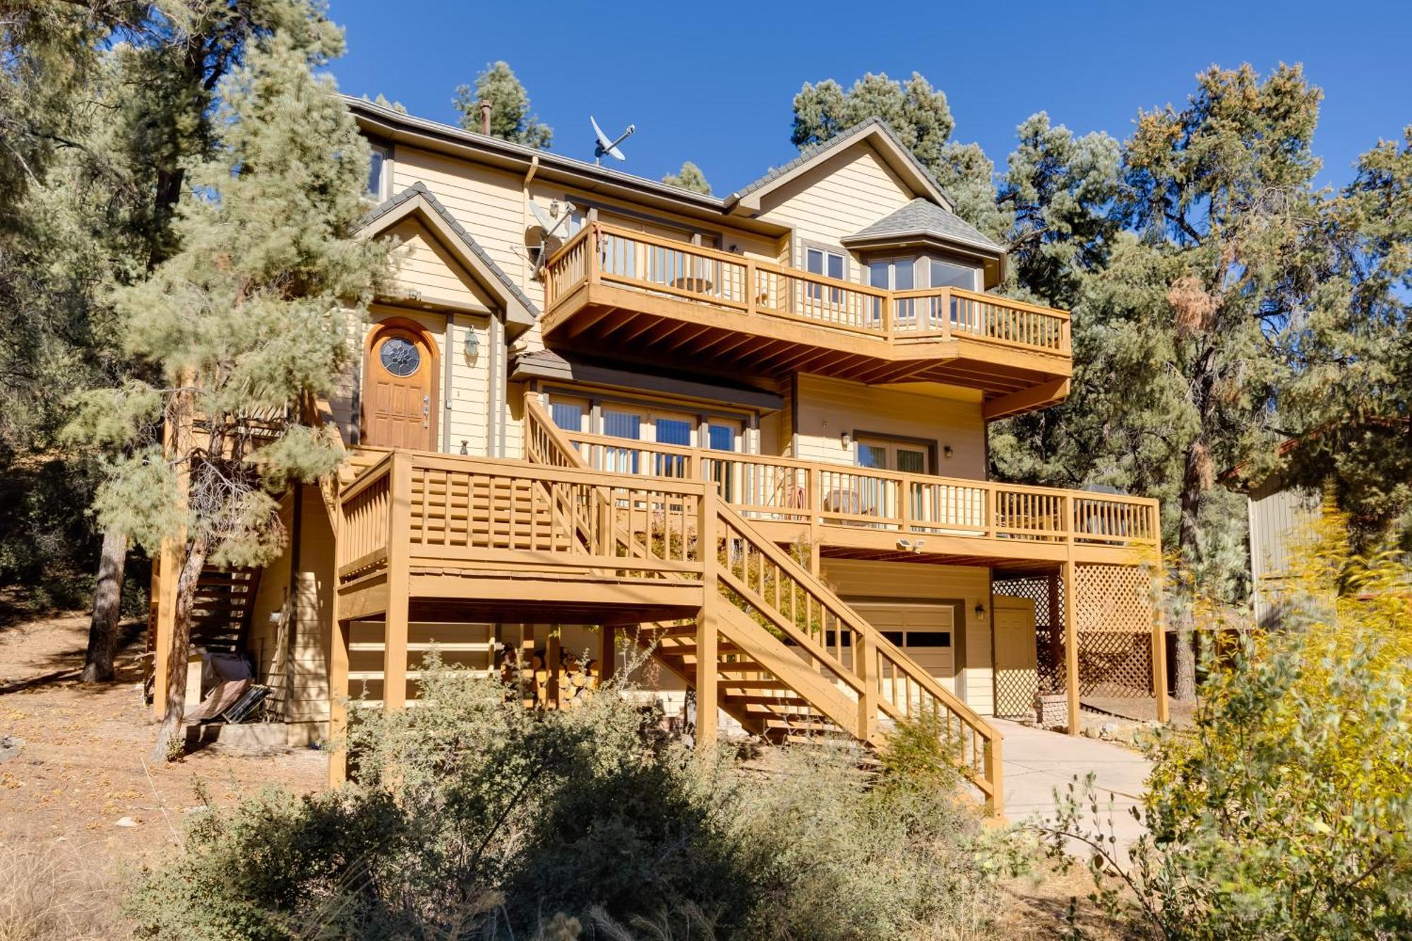
M1159 554L1156 500L565 432L586 466L709 482L771 540L826 555L1000 565L1137 565Z

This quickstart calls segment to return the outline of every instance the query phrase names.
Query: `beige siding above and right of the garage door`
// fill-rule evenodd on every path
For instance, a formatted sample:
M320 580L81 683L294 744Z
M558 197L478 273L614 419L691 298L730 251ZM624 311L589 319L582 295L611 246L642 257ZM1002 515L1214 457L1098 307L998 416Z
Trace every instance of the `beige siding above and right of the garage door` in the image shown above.
M990 569L971 565L823 560L823 579L844 600L959 600L966 619L966 704L991 715L995 690L990 653ZM976 616L976 605L986 616ZM953 649L956 643L953 641Z

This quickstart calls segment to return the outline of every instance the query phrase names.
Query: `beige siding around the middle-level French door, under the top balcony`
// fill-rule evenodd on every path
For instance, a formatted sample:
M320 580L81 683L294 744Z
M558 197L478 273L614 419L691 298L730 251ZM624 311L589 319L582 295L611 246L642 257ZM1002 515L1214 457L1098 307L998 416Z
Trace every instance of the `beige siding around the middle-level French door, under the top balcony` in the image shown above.
M822 376L799 376L799 437L794 456L854 463L856 445L843 432L923 438L936 445L932 473L980 480L986 476L986 422L979 401L940 398ZM789 417L785 415L788 421ZM946 458L946 448L952 456Z

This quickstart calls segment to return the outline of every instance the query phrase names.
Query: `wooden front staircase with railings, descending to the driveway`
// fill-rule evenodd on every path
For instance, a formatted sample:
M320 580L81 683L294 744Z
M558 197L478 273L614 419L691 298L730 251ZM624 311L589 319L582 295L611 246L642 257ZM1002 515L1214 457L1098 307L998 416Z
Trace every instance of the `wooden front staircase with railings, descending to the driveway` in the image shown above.
M532 394L524 415L530 463L589 469ZM700 619L644 626L638 643L699 697L771 740L843 735L881 749L898 722L928 721L998 814L1000 732L723 500L707 506L713 510L699 526L683 526L679 534L706 569ZM621 507L620 497L600 487L587 502L558 507L556 517L569 520L576 535L594 533L600 543L610 533L606 538L618 557L651 558L651 507L641 514L645 531ZM585 526L585 519L600 524ZM702 644L714 653L703 654ZM705 657L713 667L703 668ZM714 711L702 706L698 728L705 722L713 729Z

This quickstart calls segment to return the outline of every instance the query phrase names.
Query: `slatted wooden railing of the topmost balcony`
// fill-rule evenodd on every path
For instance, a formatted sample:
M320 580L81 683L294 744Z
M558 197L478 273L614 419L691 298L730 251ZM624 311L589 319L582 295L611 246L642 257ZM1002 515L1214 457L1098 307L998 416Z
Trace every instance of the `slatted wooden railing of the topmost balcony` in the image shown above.
M585 227L545 264L545 309L589 283L880 341L971 338L1070 355L1063 311L950 287L885 291L602 223Z

